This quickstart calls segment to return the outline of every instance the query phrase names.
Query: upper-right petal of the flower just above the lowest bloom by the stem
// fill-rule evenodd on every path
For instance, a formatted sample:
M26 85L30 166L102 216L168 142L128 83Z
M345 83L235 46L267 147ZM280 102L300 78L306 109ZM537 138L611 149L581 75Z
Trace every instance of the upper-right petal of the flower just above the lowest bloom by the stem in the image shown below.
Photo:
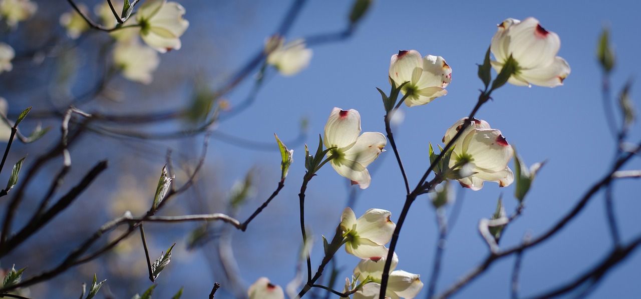
M392 212L381 209L369 209L356 219L358 236L370 239L376 244L384 245L392 239L396 225L390 220Z

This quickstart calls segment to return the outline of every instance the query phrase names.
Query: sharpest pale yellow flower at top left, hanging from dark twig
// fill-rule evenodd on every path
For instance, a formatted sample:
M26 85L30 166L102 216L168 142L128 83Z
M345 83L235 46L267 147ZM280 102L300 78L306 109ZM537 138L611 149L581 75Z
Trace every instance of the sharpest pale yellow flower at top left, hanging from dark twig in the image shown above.
M180 36L189 22L183 19L185 8L167 0L147 0L136 13L140 25L140 37L147 45L160 53L180 49Z

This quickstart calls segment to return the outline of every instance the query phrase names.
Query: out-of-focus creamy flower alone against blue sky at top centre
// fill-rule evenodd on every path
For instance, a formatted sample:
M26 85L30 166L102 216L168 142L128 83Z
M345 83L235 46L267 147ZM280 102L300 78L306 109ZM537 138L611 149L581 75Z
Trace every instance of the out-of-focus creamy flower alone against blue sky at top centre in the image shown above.
M312 60L312 49L305 47L303 39L283 45L283 38L269 38L265 45L267 64L274 65L283 76L293 76L303 71Z

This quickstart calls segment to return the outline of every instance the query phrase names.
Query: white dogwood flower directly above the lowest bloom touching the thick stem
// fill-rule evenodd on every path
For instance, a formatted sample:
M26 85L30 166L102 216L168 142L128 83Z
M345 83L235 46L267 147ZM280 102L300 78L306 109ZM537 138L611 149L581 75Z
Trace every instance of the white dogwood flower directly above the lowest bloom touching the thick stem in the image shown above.
M369 209L356 219L349 207L340 216L340 230L345 239L345 251L361 259L378 261L387 256L387 244L392 239L396 225L390 220L388 210Z

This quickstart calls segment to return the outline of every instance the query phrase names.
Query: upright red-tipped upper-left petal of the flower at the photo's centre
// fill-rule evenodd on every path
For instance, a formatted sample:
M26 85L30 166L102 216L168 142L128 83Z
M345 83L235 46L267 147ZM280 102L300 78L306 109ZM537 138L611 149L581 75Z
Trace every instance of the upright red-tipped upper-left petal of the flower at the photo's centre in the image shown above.
M358 111L354 109L345 111L334 107L325 124L323 144L326 148L336 147L338 151L344 152L356 143L360 132Z

